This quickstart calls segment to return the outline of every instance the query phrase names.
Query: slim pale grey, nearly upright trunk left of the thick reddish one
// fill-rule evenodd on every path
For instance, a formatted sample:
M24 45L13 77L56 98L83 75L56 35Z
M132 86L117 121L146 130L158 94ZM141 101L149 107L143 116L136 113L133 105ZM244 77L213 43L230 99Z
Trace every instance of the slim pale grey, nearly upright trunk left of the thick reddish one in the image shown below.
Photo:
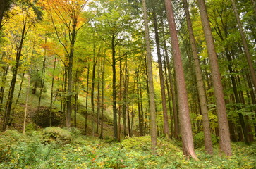
M143 18L145 27L145 41L146 41L146 51L147 51L147 75L149 84L149 97L150 97L150 136L153 151L157 146L157 125L156 125L156 107L154 102L154 83L153 83L153 73L152 73L152 55L150 51L150 31L148 27L147 20L147 5L146 0L142 0L143 6Z

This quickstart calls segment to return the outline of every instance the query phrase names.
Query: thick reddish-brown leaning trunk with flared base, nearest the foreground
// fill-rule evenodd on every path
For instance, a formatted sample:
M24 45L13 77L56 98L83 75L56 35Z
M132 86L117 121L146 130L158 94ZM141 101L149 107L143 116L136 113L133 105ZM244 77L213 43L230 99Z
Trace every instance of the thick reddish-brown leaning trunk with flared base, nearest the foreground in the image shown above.
M178 35L176 24L173 15L173 6L171 0L165 0L167 19L169 22L169 30L171 34L171 46L173 49L173 61L176 72L176 84L178 94L178 109L179 120L181 125L181 137L183 142L183 154L191 156L198 160L194 150L192 128L190 122L189 108L188 108L188 94L185 88L185 77L183 73L183 65L181 61L181 51L178 44Z

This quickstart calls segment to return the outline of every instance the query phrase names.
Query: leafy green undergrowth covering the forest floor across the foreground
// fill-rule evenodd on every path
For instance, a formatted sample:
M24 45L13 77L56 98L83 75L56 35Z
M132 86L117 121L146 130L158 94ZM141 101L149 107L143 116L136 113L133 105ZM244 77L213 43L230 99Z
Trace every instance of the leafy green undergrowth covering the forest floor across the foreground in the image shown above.
M16 130L0 133L0 168L255 168L256 143L232 143L233 156L197 148L200 161L183 156L181 142L158 139L152 155L150 137L113 142L81 134L80 130L49 127L25 136Z

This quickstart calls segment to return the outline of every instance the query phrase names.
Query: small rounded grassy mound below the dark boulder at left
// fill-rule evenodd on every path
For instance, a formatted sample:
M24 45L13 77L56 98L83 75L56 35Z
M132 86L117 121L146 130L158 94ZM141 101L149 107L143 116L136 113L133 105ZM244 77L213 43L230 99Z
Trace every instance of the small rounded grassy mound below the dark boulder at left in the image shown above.
M54 144L71 143L71 132L60 127L47 127L44 129L44 142Z

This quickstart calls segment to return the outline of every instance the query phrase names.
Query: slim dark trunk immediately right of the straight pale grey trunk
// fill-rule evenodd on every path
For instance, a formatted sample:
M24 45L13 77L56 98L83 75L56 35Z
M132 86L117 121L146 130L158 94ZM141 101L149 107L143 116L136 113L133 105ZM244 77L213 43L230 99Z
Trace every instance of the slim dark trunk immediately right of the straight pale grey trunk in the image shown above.
M169 124L168 124L166 94L165 94L165 87L164 87L163 63L161 62L159 33L158 33L157 16L156 16L156 13L155 13L155 9L153 11L153 23L154 23L154 35L155 35L156 44L157 44L158 69L159 69L160 86L161 86L161 106L162 106L162 109L163 109L163 117L164 117L164 136L166 138L169 138L170 137L170 132L169 132Z

